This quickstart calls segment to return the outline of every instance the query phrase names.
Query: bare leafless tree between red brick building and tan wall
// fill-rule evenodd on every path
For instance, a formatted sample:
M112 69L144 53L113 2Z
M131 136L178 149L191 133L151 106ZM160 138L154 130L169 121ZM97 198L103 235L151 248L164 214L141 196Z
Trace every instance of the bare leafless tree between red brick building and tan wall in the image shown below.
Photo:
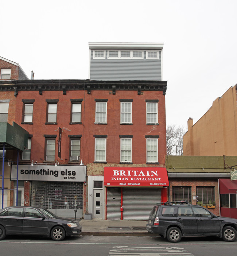
M166 151L167 155L183 155L183 135L186 133L184 127L175 124L166 126Z

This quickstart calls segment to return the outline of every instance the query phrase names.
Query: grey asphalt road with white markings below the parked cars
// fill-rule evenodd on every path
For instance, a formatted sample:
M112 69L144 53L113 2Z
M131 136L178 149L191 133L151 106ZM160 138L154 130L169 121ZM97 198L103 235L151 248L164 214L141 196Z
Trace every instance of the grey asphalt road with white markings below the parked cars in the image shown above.
M47 237L8 236L0 241L1 256L228 256L236 255L237 240L218 237L182 238L169 243L161 237L75 236L62 242Z

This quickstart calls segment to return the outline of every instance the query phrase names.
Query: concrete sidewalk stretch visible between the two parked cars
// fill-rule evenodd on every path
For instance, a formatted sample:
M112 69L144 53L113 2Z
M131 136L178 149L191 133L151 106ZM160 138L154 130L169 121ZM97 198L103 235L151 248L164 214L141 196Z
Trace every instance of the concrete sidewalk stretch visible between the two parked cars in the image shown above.
M147 221L82 219L79 222L82 236L158 236L147 232Z

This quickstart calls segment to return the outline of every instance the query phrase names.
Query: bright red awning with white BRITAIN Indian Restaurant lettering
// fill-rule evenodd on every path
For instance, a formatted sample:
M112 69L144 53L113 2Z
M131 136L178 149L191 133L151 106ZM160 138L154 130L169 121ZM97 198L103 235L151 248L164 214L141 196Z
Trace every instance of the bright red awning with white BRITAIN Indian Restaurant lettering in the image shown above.
M104 186L169 186L165 167L105 167Z

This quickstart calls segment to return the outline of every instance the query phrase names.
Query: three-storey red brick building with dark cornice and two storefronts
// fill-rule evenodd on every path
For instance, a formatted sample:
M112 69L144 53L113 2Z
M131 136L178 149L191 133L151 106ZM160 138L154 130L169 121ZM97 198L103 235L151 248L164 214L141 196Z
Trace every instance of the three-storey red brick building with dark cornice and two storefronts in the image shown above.
M167 195L166 86L166 81L0 81L0 96L11 95L9 109L17 113L11 121L29 133L19 156L18 204L69 217L76 205L78 217L147 219ZM16 152L6 156L13 188Z

